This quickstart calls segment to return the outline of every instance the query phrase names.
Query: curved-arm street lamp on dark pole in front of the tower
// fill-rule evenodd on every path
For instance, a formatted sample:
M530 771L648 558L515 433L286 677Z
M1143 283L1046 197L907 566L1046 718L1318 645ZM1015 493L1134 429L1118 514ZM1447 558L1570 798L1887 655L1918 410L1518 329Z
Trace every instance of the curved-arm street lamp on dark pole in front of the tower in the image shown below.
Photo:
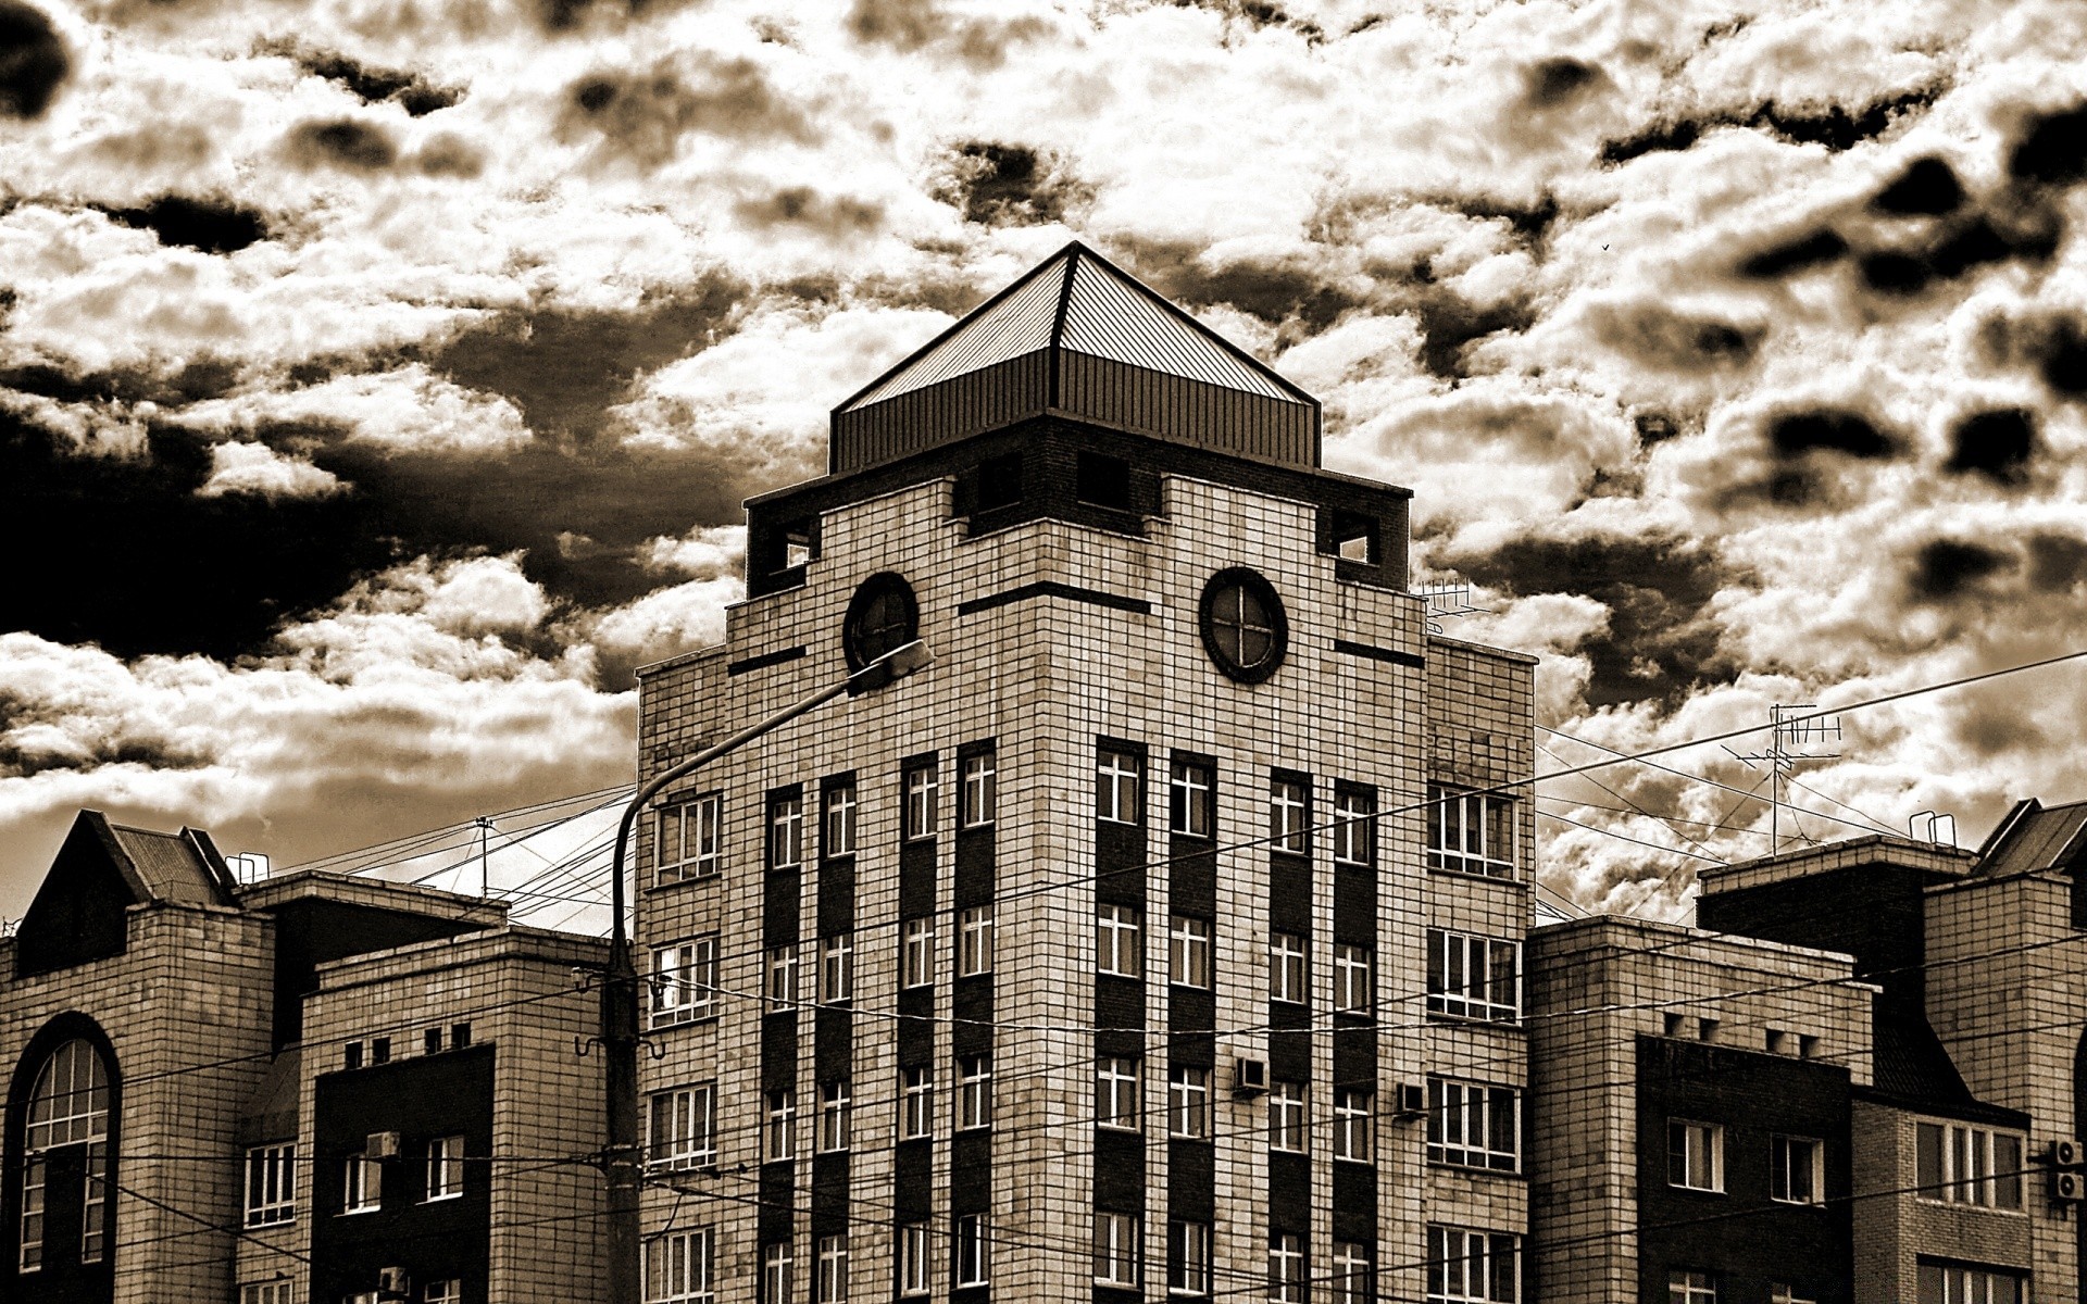
M760 724L739 730L716 747L705 747L689 759L653 774L624 807L624 818L616 824L616 860L609 868L609 972L601 983L601 1049L607 1091L609 1145L603 1154L609 1179L609 1304L639 1304L639 1170L643 1164L639 1145L639 972L630 962L630 933L624 926L624 853L630 845L630 830L639 812L659 791L685 774L745 747L768 730L789 724L797 716L820 707L835 697L862 695L906 678L933 663L927 645L914 638L904 647L877 657L839 684L820 689L803 701L783 707Z

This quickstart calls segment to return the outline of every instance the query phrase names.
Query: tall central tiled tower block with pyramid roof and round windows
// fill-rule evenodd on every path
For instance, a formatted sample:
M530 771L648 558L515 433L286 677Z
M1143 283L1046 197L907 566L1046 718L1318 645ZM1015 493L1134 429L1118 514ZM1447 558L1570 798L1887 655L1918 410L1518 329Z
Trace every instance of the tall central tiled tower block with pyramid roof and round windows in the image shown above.
M1517 1300L1532 659L1407 492L1083 246L747 505L639 855L651 1300Z

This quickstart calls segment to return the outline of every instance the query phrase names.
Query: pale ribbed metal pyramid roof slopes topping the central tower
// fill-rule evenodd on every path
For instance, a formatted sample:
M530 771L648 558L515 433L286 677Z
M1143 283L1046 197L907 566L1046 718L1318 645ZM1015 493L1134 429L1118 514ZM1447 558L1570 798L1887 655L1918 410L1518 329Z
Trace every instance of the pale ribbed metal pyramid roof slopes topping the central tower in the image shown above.
M1062 348L1279 403L1313 399L1081 242L1066 244L837 411L858 411L993 363Z

